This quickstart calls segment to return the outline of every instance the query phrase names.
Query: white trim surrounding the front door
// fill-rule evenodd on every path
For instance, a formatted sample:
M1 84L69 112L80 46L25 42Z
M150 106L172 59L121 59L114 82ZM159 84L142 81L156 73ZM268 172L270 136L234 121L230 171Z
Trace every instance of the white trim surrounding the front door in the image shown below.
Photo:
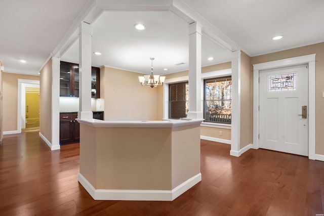
M308 64L308 158L315 160L315 55L259 63L253 65L253 148L259 145L259 73L280 67Z

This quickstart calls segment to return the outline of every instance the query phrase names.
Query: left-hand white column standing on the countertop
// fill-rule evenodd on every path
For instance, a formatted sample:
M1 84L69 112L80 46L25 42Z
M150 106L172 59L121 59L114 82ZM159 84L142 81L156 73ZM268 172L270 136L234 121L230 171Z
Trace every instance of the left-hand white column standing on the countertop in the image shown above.
M91 25L79 28L79 112L78 118L92 120L91 111Z

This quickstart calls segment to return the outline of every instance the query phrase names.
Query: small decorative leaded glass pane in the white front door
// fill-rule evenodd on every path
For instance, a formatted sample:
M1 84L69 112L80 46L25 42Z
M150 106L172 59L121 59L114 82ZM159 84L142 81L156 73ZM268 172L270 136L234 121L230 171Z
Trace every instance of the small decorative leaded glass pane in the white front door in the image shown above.
M276 74L268 76L268 91L295 91L296 73Z

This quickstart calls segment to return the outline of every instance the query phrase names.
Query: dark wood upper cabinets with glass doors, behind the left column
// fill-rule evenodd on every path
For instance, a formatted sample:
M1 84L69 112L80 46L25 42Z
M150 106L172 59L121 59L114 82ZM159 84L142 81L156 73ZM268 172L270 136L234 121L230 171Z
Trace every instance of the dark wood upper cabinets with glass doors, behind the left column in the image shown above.
M100 68L91 67L91 97L100 98ZM60 64L60 97L79 97L79 65Z

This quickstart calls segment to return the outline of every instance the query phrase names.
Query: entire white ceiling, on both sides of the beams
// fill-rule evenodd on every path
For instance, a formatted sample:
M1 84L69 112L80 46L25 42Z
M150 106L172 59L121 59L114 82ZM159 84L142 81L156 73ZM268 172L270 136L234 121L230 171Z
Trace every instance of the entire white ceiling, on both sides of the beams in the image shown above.
M109 1L108 1L109 2ZM324 41L322 0L177 0L227 35L250 56ZM0 59L6 72L38 74L88 0L2 0ZM144 23L138 31L135 23ZM141 73L188 69L188 24L172 12L104 12L92 23L93 66ZM275 35L281 40L271 40ZM213 56L213 61L207 58ZM204 34L203 66L229 61L231 52ZM27 60L20 63L20 59ZM78 42L61 56L78 63ZM176 66L175 64L185 64ZM168 68L164 71L163 68Z

